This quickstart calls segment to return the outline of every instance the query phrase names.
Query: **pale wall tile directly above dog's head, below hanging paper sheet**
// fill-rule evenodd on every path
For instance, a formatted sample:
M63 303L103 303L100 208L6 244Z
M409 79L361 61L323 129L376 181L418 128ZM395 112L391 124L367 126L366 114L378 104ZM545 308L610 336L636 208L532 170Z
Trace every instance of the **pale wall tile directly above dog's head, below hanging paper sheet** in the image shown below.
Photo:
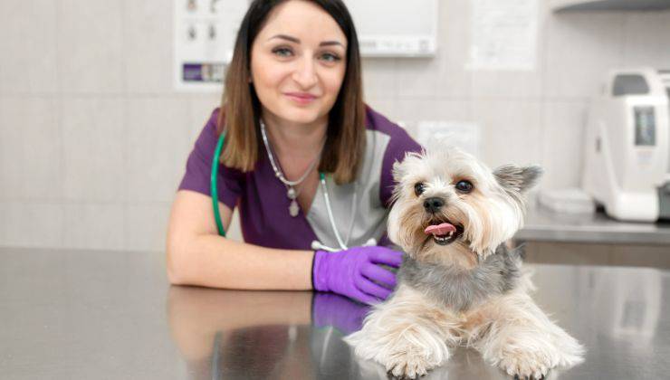
M482 131L483 162L504 164L541 162L541 103L531 100L475 100L474 122Z

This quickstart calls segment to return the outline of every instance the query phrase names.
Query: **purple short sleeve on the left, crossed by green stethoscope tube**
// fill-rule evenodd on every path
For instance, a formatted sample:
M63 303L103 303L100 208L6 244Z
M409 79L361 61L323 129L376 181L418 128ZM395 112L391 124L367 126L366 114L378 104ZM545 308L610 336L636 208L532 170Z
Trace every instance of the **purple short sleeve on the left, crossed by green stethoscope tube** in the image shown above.
M193 150L188 155L186 174L179 184L178 190L192 190L211 196L210 176L212 161L218 142L216 135L216 122L219 109L212 112L205 128L196 139ZM219 201L227 205L231 210L235 208L237 200L242 195L244 174L239 170L219 165L216 188Z

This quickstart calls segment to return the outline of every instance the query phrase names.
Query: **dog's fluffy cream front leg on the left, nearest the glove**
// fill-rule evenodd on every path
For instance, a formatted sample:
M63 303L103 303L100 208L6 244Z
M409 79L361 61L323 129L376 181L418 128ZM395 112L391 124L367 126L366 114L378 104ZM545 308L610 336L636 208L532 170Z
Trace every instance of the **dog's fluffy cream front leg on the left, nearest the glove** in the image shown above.
M458 342L457 320L407 285L374 307L363 328L344 340L356 355L372 359L398 377L415 378L449 358Z

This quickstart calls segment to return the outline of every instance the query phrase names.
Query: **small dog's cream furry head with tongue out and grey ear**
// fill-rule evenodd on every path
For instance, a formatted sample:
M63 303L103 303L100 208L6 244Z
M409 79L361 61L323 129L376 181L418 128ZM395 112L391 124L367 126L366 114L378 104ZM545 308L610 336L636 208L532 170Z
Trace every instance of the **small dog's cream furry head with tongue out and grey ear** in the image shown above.
M416 260L464 266L493 253L522 227L522 193L539 166L491 171L457 148L409 153L393 166L397 182L388 237Z

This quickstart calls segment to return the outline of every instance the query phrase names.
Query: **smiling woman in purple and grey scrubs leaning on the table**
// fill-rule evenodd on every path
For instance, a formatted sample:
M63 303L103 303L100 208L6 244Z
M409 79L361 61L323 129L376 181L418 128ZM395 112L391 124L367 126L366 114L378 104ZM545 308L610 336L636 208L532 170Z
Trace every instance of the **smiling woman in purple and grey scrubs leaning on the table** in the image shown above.
M420 147L363 103L346 7L340 0L254 1L224 90L172 207L169 280L386 299L396 279L378 264L401 261L384 246L392 166ZM210 170L222 132L218 212L225 230L239 207L244 242L226 239L215 223ZM363 246L370 239L377 245Z

